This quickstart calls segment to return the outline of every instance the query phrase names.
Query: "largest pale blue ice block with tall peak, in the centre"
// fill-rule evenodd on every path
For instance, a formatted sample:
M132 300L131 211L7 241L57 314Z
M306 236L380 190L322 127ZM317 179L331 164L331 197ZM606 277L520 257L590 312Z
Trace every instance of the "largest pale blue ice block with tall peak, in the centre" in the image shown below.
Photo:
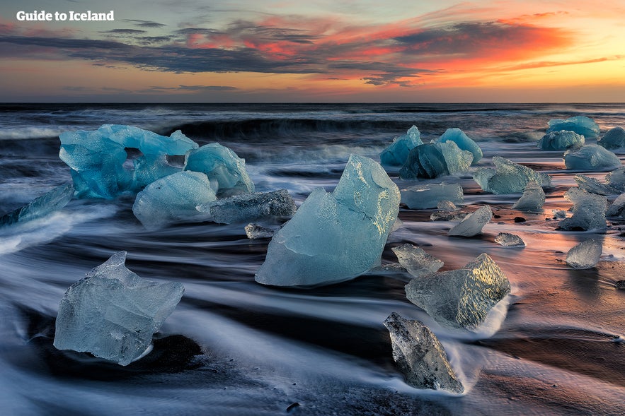
M315 189L274 234L256 281L325 285L365 273L380 261L399 198L377 162L351 155L336 189Z

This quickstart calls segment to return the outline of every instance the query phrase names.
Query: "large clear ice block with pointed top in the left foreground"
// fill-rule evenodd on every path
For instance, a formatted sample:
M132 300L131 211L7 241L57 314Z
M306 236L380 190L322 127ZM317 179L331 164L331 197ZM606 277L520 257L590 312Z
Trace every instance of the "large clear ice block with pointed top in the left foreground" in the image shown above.
M57 349L91 352L120 365L149 352L152 335L184 287L140 278L125 261L126 252L119 251L67 289L57 315Z

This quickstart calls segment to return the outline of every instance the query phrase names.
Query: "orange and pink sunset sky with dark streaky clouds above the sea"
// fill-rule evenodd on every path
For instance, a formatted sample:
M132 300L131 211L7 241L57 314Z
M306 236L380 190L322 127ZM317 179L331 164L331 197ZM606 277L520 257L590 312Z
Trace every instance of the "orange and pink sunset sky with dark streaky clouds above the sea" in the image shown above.
M11 3L11 4L8 4ZM18 11L115 21L18 21ZM625 102L625 1L22 0L2 102Z

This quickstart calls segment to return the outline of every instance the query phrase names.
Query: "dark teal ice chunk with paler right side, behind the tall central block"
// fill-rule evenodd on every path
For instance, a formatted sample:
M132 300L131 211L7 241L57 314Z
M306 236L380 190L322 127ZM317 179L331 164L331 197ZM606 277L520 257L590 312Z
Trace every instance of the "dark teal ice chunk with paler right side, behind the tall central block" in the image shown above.
M435 178L466 172L473 162L469 150L461 150L453 141L426 143L413 148L399 170L401 179Z

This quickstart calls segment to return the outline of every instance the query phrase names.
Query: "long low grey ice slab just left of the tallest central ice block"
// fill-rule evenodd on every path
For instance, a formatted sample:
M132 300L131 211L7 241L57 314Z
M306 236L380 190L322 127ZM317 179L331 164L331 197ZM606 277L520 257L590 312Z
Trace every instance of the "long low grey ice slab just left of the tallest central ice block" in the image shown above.
M286 189L240 194L197 206L202 220L231 224L263 217L290 218L297 207Z

